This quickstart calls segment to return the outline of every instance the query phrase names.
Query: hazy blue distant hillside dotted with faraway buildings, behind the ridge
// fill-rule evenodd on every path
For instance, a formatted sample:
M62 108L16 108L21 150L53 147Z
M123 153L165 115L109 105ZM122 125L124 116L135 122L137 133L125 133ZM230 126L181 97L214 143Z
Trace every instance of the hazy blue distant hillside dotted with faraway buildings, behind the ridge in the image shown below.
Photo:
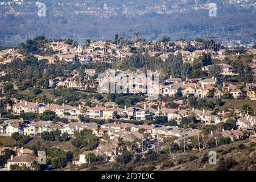
M8 3L10 2L10 3ZM39 17L36 1L0 4L0 44L15 46L27 38L113 39L115 34L148 40L170 36L188 40L217 36L219 40L255 40L254 1L44 1L46 17ZM208 3L216 3L217 17ZM159 21L160 19L160 21ZM29 34L28 34L29 32Z

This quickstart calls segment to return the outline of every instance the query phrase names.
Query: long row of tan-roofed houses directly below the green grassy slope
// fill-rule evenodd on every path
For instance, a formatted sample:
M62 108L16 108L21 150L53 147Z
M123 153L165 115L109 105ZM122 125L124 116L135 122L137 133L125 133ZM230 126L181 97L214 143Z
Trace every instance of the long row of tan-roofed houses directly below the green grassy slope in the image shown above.
M123 119L123 120L154 120L158 116L166 116L168 121L175 119L178 123L181 118L193 115L198 121L205 123L206 125L214 125L220 122L225 122L225 116L230 114L229 111L222 111L212 114L210 110L185 110L177 107L176 109L170 109L166 107L153 108L151 106L143 105L140 107L126 107L118 106L106 107L106 106L70 106L67 104L43 104L38 102L18 101L13 105L13 114L20 113L38 113L43 114L46 110L55 111L57 117L68 119L79 119L79 115L84 115L89 119ZM235 110L238 118L243 115L241 111ZM240 125L243 127L244 125ZM0 130L1 131L1 130Z

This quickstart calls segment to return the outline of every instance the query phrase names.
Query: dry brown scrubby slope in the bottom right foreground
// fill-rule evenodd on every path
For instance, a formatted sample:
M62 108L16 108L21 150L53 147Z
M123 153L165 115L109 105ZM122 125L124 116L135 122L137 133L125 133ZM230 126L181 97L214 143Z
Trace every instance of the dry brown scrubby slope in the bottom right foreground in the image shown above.
M85 164L81 170L255 170L255 139L242 140L209 150L146 155L125 166L117 162ZM209 152L217 152L217 164L208 163Z

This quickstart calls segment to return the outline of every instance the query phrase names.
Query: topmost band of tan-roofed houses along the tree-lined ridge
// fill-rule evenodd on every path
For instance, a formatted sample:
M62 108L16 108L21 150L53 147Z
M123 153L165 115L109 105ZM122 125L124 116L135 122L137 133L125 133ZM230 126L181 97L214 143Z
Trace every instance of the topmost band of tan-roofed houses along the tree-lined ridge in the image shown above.
M51 56L40 56L39 60L46 59L49 64L56 64L59 61L73 62L80 61L82 64L93 63L97 61L113 61L116 59L123 60L127 56L132 56L133 52L130 52L130 48L143 48L149 56L159 56L160 59L166 61L170 55L181 54L183 56L183 61L193 62L203 53L210 53L213 59L224 60L228 55L225 55L226 49L220 49L219 51L213 51L212 49L204 49L203 44L200 42L152 42L150 44L146 43L131 43L128 45L119 46L119 44L114 44L112 42L97 42L92 41L86 46L70 45L64 41L52 41L48 44L48 48L51 48L56 54ZM194 51L188 51L189 49ZM250 54L255 55L255 49L248 49ZM7 49L0 51L0 60L2 64L7 64L16 58L23 59L23 55L18 53L16 49ZM230 65L220 65L222 68L222 75L233 75L232 67ZM207 67L203 68L207 71Z

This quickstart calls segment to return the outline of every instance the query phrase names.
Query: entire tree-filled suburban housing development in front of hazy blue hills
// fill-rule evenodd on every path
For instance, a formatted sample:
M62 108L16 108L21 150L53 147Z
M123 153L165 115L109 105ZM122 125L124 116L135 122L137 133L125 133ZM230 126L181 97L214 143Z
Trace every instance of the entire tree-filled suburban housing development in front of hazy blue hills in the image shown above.
M255 44L39 36L0 69L2 171L256 169Z

